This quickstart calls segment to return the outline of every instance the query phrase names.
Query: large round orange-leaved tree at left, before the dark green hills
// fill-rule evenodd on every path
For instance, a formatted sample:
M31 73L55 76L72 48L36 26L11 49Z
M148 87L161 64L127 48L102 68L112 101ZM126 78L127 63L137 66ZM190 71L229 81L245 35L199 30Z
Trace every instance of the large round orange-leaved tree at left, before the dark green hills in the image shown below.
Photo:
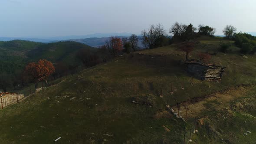
M48 84L47 79L49 75L55 72L55 68L52 62L40 59L38 63L30 62L26 65L25 72L33 78L35 87L37 87L37 83L43 80Z

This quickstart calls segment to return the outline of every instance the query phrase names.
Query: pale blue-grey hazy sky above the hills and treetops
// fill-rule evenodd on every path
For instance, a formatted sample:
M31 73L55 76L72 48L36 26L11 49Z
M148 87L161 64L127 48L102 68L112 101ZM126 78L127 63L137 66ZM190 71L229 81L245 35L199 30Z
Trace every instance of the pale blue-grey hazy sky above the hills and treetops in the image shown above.
M162 23L256 31L256 0L0 0L0 36L135 33Z

